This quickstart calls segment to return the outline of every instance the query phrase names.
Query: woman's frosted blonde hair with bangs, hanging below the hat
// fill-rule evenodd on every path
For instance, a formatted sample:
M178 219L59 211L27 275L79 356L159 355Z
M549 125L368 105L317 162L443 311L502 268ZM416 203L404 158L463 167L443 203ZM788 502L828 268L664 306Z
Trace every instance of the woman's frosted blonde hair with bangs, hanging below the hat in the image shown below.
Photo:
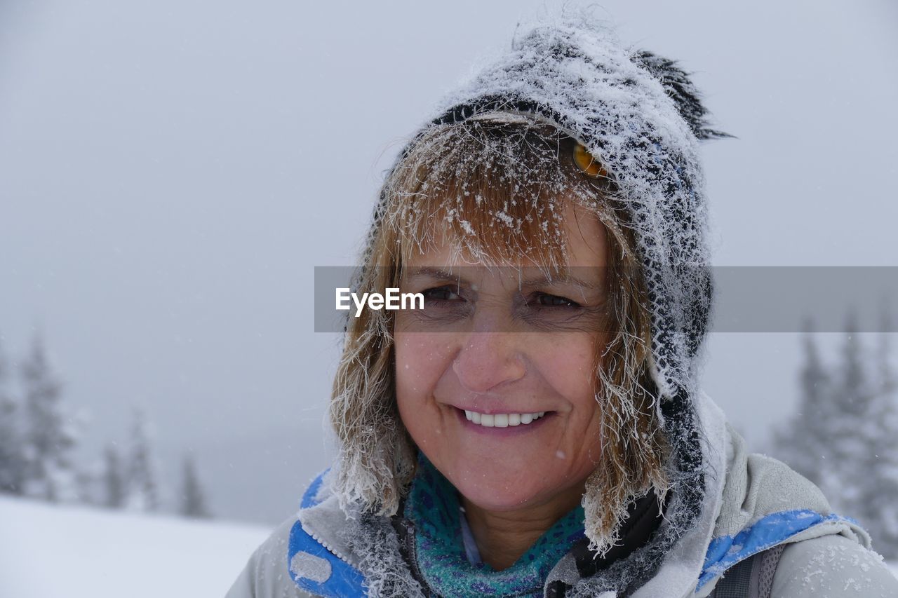
M548 268L565 265L561 204L573 201L608 231L607 326L594 357L602 411L602 457L586 481L585 532L603 553L618 538L629 505L655 489L665 497L667 443L648 375L646 285L624 200L612 180L593 178L571 159L577 142L529 119L432 125L406 148L383 184L356 291L399 286L412 251L436 233L474 259L526 255ZM395 514L416 468L417 449L395 398L392 312L348 319L334 380L330 421L340 453L334 489L341 506ZM607 337L606 337L607 338Z

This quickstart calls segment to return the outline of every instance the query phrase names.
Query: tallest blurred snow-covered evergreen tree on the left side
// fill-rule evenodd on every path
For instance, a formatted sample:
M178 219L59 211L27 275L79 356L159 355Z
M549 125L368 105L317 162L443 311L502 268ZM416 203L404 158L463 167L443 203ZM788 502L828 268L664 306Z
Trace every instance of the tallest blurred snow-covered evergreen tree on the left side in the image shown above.
M52 502L77 497L75 430L60 403L60 384L50 371L40 337L22 364L25 430L24 494Z

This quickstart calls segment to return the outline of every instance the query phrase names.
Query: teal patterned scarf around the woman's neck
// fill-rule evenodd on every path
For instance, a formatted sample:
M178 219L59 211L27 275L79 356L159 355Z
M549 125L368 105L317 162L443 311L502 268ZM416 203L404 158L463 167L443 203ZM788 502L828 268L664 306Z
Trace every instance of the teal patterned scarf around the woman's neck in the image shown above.
M584 537L583 507L577 506L543 533L514 565L496 571L466 557L459 507L458 491L421 454L404 514L415 525L421 574L441 596L542 596L551 568Z

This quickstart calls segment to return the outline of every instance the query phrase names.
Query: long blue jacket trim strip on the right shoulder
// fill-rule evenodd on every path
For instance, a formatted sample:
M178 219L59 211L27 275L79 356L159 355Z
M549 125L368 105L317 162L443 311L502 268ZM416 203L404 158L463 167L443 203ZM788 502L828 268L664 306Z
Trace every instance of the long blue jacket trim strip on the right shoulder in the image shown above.
M816 511L797 509L766 515L735 536L715 538L708 545L705 564L701 569L699 585L696 589L707 584L739 561L776 546L798 532L804 532L814 525L830 521L853 523L849 517L837 514L823 516Z

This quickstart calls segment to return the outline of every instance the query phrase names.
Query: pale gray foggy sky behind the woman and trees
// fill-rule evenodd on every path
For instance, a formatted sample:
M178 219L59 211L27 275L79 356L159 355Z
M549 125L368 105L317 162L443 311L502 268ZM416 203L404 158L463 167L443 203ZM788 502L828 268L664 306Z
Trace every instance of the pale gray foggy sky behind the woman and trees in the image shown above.
M43 339L81 457L140 406L170 494L191 451L216 515L291 514L328 462L339 347L313 268L356 262L403 140L546 5L0 0L0 347ZM738 137L703 146L716 265L898 266L898 4L594 6ZM707 353L763 449L798 335Z

